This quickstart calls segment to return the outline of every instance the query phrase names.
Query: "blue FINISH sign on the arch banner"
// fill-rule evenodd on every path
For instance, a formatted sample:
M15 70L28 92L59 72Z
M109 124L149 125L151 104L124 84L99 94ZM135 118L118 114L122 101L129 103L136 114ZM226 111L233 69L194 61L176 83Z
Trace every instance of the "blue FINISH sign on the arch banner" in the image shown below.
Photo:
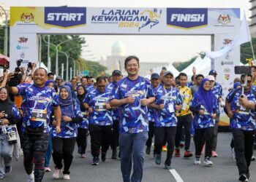
M200 28L208 25L206 8L167 8L167 25L176 28Z

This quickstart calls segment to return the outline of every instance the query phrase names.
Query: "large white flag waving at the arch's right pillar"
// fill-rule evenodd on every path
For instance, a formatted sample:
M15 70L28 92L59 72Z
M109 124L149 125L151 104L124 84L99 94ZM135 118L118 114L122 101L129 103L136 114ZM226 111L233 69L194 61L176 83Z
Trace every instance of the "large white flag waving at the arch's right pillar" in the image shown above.
M206 52L206 56L212 59L221 58L227 55L227 52L230 52L230 50L233 50L234 47L240 46L241 44L244 44L245 42L251 41L251 40L252 39L249 33L249 27L248 27L248 24L246 21L246 15L244 12L244 18L239 28L239 31L238 33L236 33L236 36L234 36L234 39L231 42L231 44L225 46L222 50L219 50L219 51Z

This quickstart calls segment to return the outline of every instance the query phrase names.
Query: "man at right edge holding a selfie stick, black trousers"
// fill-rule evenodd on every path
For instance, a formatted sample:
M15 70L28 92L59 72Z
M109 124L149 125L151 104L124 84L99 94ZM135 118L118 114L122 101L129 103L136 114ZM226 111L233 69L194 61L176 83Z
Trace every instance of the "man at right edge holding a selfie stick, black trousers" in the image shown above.
M241 83L244 84L245 76L241 76ZM244 86L244 95L242 89L233 90L227 95L226 108L230 117L230 127L233 132L234 149L236 153L236 165L239 171L239 181L249 180L249 165L252 158L252 148L255 132L255 95L256 92L251 89L252 75L247 75L247 84ZM244 98L249 102L244 102ZM246 104L244 104L246 103Z

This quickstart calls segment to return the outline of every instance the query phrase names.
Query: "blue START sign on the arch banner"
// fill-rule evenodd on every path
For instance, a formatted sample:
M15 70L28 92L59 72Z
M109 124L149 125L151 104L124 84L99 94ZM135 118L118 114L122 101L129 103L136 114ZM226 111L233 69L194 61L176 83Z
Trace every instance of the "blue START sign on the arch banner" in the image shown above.
M86 25L86 7L45 7L45 23L63 28Z

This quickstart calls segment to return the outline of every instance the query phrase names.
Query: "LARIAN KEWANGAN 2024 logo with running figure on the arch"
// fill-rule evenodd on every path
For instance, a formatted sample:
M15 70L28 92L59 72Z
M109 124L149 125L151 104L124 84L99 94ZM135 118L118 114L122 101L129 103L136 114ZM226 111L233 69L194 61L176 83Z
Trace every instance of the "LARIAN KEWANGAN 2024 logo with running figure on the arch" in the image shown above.
M151 29L160 23L162 9L102 9L91 23L116 24L118 28Z

